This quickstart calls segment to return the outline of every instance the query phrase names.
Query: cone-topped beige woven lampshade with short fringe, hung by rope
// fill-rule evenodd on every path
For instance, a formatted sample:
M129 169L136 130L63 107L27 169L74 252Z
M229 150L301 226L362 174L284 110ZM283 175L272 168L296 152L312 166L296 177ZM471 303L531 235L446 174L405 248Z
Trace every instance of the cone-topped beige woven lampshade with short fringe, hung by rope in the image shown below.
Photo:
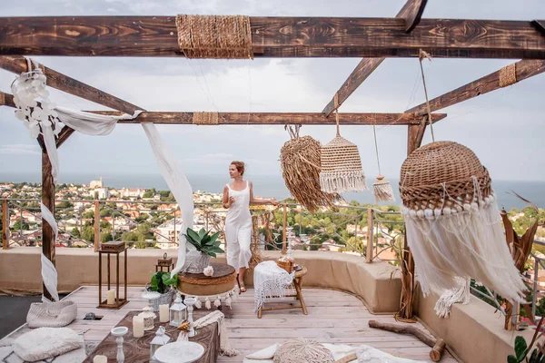
M344 191L367 191L365 174L362 170L362 159L358 147L344 139L339 131L339 101L337 93L334 97L337 136L322 146L320 186L328 193Z

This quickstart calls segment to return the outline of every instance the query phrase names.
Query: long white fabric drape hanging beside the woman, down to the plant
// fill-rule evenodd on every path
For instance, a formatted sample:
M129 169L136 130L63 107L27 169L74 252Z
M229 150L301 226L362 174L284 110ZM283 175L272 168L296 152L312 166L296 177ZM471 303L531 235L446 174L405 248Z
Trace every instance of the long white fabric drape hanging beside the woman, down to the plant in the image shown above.
M184 235L188 228L193 227L193 189L182 168L174 159L173 153L157 132L154 123L142 123L142 127L154 151L155 159L159 164L159 171L173 193L174 199L178 202L180 211L182 211L182 229L178 238L178 260L176 261L176 267L171 272L171 276L173 276L182 270L185 264L186 249L194 250L193 245L187 244Z

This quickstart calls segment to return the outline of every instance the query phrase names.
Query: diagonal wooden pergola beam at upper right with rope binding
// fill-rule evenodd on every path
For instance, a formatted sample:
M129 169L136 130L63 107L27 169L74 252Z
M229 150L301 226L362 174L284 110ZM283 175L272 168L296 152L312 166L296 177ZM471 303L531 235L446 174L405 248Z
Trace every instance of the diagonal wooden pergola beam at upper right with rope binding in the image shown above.
M522 60L516 63L517 81L520 82L536 74L545 72L545 60ZM449 107L452 104L461 103L484 93L497 90L500 87L500 71L485 75L484 77L462 85L461 87L444 93L439 97L430 100L431 112ZM413 113L415 116L421 116L427 113L426 103L421 103L405 113Z

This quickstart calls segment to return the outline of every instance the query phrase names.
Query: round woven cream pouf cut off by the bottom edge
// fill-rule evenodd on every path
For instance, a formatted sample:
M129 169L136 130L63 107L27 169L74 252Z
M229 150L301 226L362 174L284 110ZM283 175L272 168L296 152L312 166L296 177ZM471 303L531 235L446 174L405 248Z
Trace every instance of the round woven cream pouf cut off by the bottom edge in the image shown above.
M274 353L274 363L333 363L332 352L315 340L296 338L284 342Z

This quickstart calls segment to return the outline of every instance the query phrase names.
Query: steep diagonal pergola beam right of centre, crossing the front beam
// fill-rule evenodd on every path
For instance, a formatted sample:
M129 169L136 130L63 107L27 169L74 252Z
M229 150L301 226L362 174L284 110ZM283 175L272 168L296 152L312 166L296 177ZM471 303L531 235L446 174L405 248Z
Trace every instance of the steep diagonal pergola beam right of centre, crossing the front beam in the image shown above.
M423 12L425 5L426 0L408 0L407 3L405 3L405 5L403 5L403 7L401 8L398 15L395 15L395 17L405 20L405 29L407 31L407 29L411 28L410 24L414 24L414 22L420 22L421 18L420 16L418 16L418 12L420 11L420 9ZM384 59L386 58L381 57L362 59L362 61L352 71L352 74L348 76L346 81L342 83L341 88L339 88L339 90L337 91L337 101L339 103L339 106L342 105L342 103L344 103L344 101L346 101L348 97L350 97L350 95L363 83L363 81L367 79L367 77L369 77L374 72L374 70L379 65L381 65ZM329 116L334 109L335 99L333 96L332 100L327 103L322 113L324 113L326 116Z

